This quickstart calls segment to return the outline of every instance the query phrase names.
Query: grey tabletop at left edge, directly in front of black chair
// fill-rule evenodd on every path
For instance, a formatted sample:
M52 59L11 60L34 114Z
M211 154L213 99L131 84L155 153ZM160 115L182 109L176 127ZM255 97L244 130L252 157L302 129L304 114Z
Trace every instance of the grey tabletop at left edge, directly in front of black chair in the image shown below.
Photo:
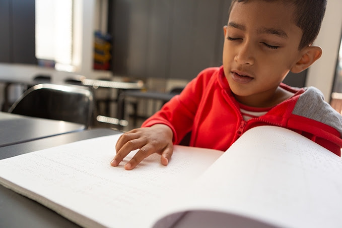
M82 124L0 112L0 147L82 130Z

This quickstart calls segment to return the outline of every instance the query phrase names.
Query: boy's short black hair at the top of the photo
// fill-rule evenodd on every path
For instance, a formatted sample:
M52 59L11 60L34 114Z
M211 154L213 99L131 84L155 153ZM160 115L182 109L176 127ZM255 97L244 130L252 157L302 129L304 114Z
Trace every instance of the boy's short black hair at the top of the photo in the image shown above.
M313 43L316 39L324 18L327 0L258 0L265 2L282 2L295 7L294 23L303 31L298 49ZM248 0L232 0L230 11L234 3L247 3Z

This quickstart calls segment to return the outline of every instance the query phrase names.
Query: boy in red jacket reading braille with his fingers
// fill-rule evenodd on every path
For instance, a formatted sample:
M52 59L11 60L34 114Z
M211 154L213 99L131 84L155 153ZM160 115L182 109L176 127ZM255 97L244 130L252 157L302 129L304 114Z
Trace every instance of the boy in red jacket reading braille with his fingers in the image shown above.
M326 0L233 0L224 26L223 66L202 71L142 128L123 134L111 161L134 168L152 153L167 165L173 144L191 132L190 146L227 150L261 125L293 130L340 156L342 118L317 89L282 83L320 58L312 46Z

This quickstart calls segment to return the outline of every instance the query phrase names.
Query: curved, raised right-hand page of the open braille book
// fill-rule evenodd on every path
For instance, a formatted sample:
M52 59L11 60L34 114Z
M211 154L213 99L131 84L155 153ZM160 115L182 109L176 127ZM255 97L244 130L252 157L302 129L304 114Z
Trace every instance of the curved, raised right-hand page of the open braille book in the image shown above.
M174 202L160 214L190 211L176 227L245 227L250 219L257 227L340 227L342 160L293 131L256 127ZM161 219L155 227L164 225Z

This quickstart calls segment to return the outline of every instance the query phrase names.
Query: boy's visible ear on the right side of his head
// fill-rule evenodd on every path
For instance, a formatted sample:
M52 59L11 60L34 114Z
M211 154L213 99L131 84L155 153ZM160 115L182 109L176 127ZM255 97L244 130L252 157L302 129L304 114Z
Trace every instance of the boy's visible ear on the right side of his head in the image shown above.
M301 51L301 59L291 68L291 72L300 73L311 66L322 55L322 48L318 46L308 46Z

